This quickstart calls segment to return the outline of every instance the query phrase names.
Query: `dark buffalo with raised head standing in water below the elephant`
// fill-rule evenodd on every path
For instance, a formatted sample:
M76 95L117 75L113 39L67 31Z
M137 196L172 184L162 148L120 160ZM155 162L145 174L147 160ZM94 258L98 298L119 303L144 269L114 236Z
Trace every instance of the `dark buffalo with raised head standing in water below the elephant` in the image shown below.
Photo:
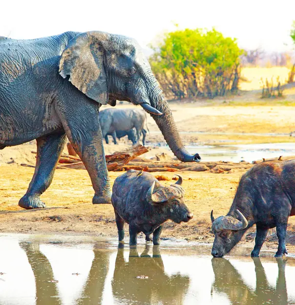
M181 177L176 184L164 187L152 174L135 170L117 177L113 185L112 205L119 241L124 240L125 222L129 224L130 245L137 244L140 232L147 236L147 240L153 233L153 244L158 245L165 221L189 221L193 215L184 203L184 190L178 184L180 181Z

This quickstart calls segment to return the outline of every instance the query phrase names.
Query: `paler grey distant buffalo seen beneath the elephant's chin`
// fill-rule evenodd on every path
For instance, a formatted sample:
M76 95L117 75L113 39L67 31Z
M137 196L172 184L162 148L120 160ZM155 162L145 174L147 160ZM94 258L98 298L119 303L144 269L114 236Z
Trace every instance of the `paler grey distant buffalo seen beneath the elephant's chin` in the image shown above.
M103 137L114 131L129 131L135 128L136 142L139 141L144 124L146 112L142 109L105 109L99 113L99 121L102 127ZM143 145L145 145L146 133L143 133ZM115 143L116 144L116 143Z

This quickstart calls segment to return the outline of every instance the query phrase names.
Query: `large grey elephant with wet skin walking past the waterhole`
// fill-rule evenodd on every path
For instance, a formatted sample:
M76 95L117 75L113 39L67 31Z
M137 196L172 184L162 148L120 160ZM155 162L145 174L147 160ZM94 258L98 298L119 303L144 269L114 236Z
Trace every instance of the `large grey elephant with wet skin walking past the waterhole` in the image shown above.
M37 140L35 173L19 201L22 208L45 207L40 196L50 186L66 136L91 178L92 203L110 203L99 109L116 100L150 113L179 160L201 159L185 149L148 60L131 38L100 31L0 37L0 66L0 149Z

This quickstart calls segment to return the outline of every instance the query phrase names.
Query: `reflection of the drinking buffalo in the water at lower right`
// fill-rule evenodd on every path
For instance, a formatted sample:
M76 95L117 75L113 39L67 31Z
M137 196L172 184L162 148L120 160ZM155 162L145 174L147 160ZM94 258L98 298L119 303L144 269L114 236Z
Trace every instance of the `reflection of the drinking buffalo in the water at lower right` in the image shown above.
M226 293L232 305L287 305L288 296L285 279L286 261L277 259L278 277L276 287L270 285L259 258L253 258L256 273L256 289L244 283L241 274L226 259L212 259L215 281L212 291Z

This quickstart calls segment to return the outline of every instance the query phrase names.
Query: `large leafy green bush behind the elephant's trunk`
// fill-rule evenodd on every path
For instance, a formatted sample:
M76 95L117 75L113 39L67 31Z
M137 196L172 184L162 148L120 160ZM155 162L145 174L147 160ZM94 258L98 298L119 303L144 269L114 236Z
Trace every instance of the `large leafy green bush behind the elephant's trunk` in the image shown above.
M243 51L215 29L167 33L153 50L149 62L168 98L213 98L238 88Z

